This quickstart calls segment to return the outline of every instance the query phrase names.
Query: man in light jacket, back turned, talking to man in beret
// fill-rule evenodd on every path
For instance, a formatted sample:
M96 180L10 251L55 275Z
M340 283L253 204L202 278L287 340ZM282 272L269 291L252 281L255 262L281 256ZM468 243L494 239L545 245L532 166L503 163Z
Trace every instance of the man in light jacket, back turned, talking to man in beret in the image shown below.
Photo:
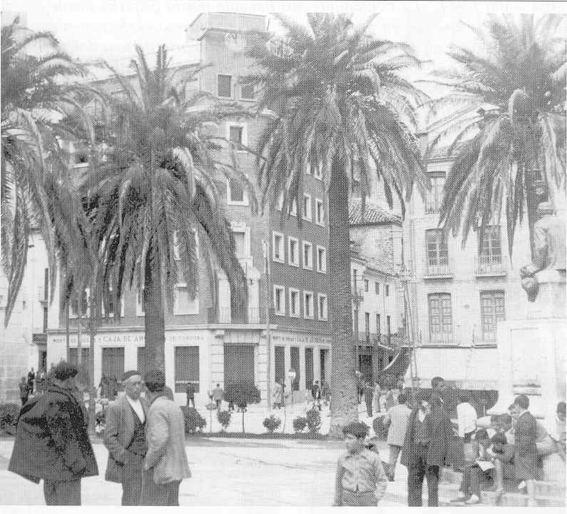
M185 453L185 423L175 402L165 396L163 371L145 373L150 408L146 421L141 505L179 505L179 485L191 476Z

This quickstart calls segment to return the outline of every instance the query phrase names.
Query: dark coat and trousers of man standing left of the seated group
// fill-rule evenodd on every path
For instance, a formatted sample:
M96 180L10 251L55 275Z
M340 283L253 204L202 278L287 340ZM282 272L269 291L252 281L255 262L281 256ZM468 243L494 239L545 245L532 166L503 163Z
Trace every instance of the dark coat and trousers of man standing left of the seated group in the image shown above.
M422 397L407 423L401 462L407 467L407 504L422 506L423 480L427 478L427 505L439 505L439 468L445 465L449 438L453 433L451 418L438 395Z

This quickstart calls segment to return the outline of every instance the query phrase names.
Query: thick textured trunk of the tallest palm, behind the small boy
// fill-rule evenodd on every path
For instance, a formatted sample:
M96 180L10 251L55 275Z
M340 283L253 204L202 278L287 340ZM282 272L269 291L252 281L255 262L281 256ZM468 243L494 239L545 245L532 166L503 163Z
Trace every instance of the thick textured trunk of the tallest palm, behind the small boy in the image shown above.
M330 435L342 437L344 425L358 419L352 299L350 291L349 191L344 158L331 164L329 186L329 276L332 340Z

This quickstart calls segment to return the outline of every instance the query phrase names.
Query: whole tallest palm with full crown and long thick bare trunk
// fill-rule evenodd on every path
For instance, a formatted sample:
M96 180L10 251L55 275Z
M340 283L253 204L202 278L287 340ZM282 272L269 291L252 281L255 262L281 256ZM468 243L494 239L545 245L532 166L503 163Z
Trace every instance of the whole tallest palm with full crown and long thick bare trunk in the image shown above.
M358 181L364 201L376 173L390 206L395 196L403 211L414 185L426 186L416 141L400 118L412 124L414 104L424 100L399 74L419 61L406 44L372 39L374 17L355 29L343 14L310 14L308 27L277 16L285 36L257 35L249 54L259 71L245 79L259 84L257 109L269 117L257 147L262 207L283 193L282 213L294 200L301 208L306 166L322 170L327 188L335 434L357 419L349 189Z

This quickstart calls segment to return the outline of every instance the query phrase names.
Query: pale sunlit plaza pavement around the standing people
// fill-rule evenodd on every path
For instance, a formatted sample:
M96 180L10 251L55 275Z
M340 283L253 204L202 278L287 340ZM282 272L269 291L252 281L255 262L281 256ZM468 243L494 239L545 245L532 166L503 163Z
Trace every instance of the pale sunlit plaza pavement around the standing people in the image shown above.
M202 415L206 410L198 410ZM304 404L287 406L286 433L291 433L292 420L305 412ZM322 410L322 430L327 433L330 418ZM271 411L283 421L283 410ZM372 426L360 406L360 419ZM265 433L267 408L252 405L245 413L245 428L251 433ZM235 413L228 431L242 430L241 414ZM205 428L205 433L209 427ZM220 425L213 413L213 432ZM281 431L282 428L280 427ZM108 451L102 440L91 438L98 462L99 475L82 480L83 505L120 505L121 486L104 480ZM0 504L44 505L43 487L7 470L12 438L0 440ZM325 507L332 504L337 456L344 449L342 441L294 439L188 438L186 451L192 478L180 486L180 505L273 505L282 507ZM380 455L387 458L387 445L380 443ZM407 471L398 465L396 481L388 483L380 505L406 505ZM426 488L425 488L426 489ZM456 485L441 486L440 498L449 499Z

